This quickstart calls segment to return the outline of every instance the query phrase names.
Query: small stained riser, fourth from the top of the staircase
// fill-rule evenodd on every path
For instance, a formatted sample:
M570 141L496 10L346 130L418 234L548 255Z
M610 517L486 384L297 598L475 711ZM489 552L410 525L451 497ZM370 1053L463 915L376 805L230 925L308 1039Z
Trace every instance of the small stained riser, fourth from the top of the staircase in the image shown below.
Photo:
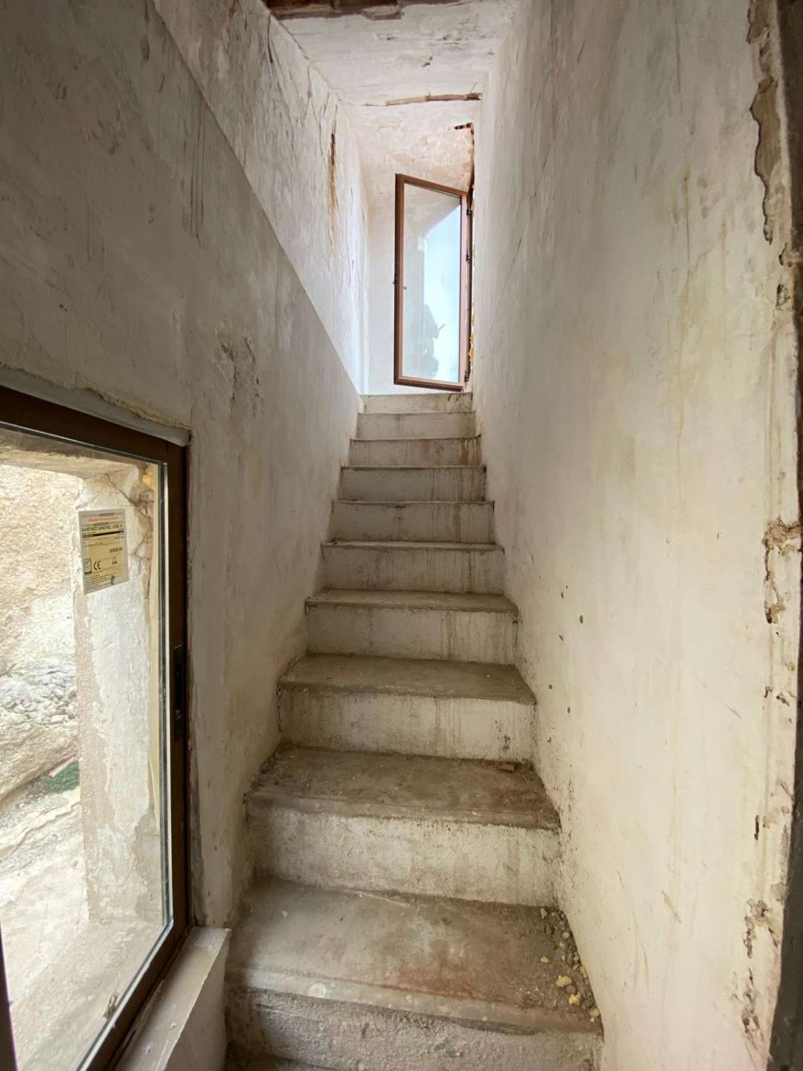
M363 502L479 502L485 469L475 465L389 468L344 465L340 498Z

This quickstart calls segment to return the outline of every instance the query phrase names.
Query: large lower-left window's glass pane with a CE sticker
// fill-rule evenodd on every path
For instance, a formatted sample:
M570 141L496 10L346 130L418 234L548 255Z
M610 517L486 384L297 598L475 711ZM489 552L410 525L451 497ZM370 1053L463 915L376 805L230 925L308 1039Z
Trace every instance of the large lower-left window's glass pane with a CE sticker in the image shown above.
M22 1071L81 1064L170 922L164 477L0 426L0 925Z

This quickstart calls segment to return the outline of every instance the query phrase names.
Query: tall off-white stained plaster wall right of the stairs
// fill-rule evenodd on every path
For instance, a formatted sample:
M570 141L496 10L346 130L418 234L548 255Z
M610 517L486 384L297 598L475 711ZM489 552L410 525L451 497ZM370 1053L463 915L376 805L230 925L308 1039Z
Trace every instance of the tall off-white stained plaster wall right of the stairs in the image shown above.
M767 6L748 43L746 3L527 5L478 130L489 497L611 1071L766 1067L800 575Z

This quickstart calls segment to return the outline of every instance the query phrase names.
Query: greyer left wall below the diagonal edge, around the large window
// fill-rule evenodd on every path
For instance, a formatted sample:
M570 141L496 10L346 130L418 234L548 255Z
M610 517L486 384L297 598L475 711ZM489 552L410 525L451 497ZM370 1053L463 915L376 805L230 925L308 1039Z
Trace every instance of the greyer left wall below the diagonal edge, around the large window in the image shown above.
M194 881L219 923L359 398L150 0L9 0L0 50L0 361L192 429Z

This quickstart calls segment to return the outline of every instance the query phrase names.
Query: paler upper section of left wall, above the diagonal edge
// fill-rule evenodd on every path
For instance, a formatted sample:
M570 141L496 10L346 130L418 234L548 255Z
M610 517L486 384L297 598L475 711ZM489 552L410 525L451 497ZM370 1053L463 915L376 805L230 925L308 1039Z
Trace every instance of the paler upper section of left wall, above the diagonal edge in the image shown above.
M262 0L156 7L364 391L366 207L346 110Z

